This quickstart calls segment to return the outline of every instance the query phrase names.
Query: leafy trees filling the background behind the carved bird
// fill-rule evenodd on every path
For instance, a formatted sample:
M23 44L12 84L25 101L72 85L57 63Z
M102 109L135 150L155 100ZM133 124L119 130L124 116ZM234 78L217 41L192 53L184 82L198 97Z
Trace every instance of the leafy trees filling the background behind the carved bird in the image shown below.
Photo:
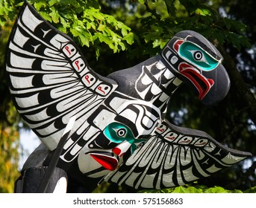
M169 120L178 126L206 131L231 148L256 155L256 1L29 2L34 3L52 25L72 36L81 46L90 66L103 76L154 56L180 30L202 33L222 51L224 65L231 78L231 90L217 105L205 106L184 84L172 97ZM0 7L0 152L3 158L0 160L0 175L7 172L7 161L13 166L12 172L18 174L16 166L20 153L16 149L19 145L20 120L10 101L4 77L4 48L20 5L22 1L5 0L1 1ZM255 157L249 158L245 163L225 169L199 183L229 189L254 187L254 160ZM4 180L9 180L7 183L11 184L16 175ZM0 183L0 192L10 192L10 186L7 189L1 184L5 182ZM110 188L113 192L118 191L116 186L108 187L108 191Z

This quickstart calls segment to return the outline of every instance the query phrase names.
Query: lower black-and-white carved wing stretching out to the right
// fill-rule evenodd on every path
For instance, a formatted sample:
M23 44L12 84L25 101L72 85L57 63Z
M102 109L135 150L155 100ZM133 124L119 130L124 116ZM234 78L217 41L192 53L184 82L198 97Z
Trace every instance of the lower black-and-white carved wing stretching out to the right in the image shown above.
M136 189L182 186L252 156L228 149L204 131L164 121L154 135L105 181Z

